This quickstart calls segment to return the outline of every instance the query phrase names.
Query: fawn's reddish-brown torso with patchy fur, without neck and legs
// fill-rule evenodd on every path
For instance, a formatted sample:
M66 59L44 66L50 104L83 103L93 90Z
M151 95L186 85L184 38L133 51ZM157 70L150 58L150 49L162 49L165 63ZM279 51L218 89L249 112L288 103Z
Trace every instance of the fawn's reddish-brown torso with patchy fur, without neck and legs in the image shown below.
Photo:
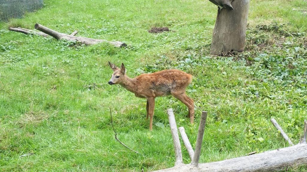
M192 75L177 69L167 69L141 74L135 79L141 95L156 97L169 95L171 91L185 91L188 84L192 82Z

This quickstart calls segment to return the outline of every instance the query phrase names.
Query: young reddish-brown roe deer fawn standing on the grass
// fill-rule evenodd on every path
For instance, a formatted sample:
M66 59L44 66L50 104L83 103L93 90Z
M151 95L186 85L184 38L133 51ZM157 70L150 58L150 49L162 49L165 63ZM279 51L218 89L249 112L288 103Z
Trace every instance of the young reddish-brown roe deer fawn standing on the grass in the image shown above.
M141 74L135 78L126 76L124 64L118 68L111 62L114 71L109 84L120 84L136 97L146 98L146 119L150 116L149 130L153 127L154 99L158 96L173 95L184 103L188 109L191 124L194 121L194 101L185 93L185 88L192 82L192 75L177 69L167 69L155 73Z

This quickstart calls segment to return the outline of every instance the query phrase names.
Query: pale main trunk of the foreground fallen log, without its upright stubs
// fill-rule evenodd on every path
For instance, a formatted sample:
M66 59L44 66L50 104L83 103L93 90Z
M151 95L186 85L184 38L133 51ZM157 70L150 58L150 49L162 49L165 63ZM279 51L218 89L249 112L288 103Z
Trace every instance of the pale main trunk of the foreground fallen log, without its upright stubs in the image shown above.
M307 164L307 144L266 151L198 166L184 164L154 172L271 172Z

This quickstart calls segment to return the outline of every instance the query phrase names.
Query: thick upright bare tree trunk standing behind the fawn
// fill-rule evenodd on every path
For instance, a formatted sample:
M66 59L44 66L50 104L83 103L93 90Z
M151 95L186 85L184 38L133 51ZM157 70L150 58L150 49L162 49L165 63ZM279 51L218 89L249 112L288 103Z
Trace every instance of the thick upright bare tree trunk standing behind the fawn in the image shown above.
M233 10L218 8L210 50L212 55L243 51L249 2L250 0L234 0L231 3Z

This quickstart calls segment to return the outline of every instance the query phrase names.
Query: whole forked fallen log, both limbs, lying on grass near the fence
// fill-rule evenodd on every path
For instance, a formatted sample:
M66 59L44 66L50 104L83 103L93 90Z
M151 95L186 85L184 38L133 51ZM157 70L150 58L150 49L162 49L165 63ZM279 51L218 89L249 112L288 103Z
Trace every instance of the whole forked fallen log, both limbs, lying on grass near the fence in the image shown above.
M75 36L78 32L72 32L72 34L67 35L64 33L59 33L56 32L50 28L47 28L41 24L35 24L34 26L35 29L41 31L41 32L37 32L37 31L32 31L29 29L25 29L25 28L9 28L9 30L11 31L15 31L15 32L21 32L24 34L36 34L36 35L40 35L40 36L52 36L55 39L66 39L66 40L70 40L70 41L78 41L82 44L86 44L86 45L93 45L93 44L97 44L97 43L103 43L103 42L107 42L110 43L112 45L114 45L115 47L126 47L127 45L125 43L122 43L120 41L107 41L104 39L93 39L93 38L86 38L86 37L81 37L81 36Z

